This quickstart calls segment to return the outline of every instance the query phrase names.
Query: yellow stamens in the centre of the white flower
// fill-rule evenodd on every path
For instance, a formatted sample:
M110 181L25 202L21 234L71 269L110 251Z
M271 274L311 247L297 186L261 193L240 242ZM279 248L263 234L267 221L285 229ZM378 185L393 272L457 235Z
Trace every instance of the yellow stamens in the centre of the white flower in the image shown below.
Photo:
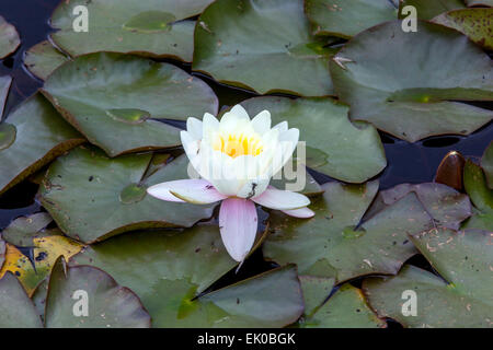
M221 151L231 158L239 155L259 155L263 151L262 140L257 135L243 133L218 135L214 142L214 150Z

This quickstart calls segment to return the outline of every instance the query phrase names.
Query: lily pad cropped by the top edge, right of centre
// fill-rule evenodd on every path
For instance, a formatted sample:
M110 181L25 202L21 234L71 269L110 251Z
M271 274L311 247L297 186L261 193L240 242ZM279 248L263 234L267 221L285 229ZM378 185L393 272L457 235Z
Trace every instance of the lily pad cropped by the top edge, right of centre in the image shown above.
M378 23L394 20L398 9L389 0L306 0L305 12L314 35L349 38Z

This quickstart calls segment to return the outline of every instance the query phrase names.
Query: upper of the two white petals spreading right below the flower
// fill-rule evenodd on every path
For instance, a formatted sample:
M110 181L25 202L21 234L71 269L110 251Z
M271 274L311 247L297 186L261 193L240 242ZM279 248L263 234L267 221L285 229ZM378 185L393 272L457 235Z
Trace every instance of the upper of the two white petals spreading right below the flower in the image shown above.
M280 190L272 186L268 186L262 195L252 198L252 200L257 205L276 210L299 209L310 203L307 196L290 190Z

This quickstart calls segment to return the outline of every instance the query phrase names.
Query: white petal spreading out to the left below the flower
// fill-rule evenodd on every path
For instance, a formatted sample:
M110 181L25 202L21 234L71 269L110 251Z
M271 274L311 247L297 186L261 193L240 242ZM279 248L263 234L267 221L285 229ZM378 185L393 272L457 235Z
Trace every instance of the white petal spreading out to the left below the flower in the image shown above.
M205 179L177 179L151 186L147 189L148 194L154 196L154 187L160 190L168 189L170 194L184 201L194 205L209 205L227 198L219 194L214 186ZM158 196L154 196L158 197ZM159 197L158 197L159 198Z

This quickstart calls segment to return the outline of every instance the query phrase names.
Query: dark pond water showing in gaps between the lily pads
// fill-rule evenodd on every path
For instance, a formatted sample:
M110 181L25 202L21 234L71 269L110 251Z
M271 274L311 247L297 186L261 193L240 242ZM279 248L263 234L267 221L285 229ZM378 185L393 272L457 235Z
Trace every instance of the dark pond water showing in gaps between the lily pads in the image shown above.
M13 77L5 115L42 85L42 81L34 78L24 68L22 59L26 49L47 38L47 35L51 31L48 25L48 19L59 1L0 1L0 15L18 28L22 39L22 45L16 52L0 60L0 75L10 74ZM172 63L190 72L190 65L174 61ZM232 105L254 96L250 92L217 84L206 77L202 78L216 91L222 106ZM493 109L492 104L482 104L482 106ZM468 156L481 156L486 145L493 139L493 124L483 127L469 137L433 137L416 143L398 140L383 132L380 136L389 165L378 178L380 179L381 188L389 188L402 183L432 182L439 162L451 150L459 151ZM314 175L321 183L331 180L322 174ZM0 230L5 228L13 219L41 209L39 205L35 201L36 190L37 187L35 185L25 183L16 186L0 198ZM236 279L241 279L272 267L268 262L261 261L261 253L257 252L252 259L245 262L246 266ZM415 265L429 269L426 260L420 256L414 257L412 261ZM219 281L219 284L229 280L230 278ZM357 285L358 282L356 281L355 283Z

